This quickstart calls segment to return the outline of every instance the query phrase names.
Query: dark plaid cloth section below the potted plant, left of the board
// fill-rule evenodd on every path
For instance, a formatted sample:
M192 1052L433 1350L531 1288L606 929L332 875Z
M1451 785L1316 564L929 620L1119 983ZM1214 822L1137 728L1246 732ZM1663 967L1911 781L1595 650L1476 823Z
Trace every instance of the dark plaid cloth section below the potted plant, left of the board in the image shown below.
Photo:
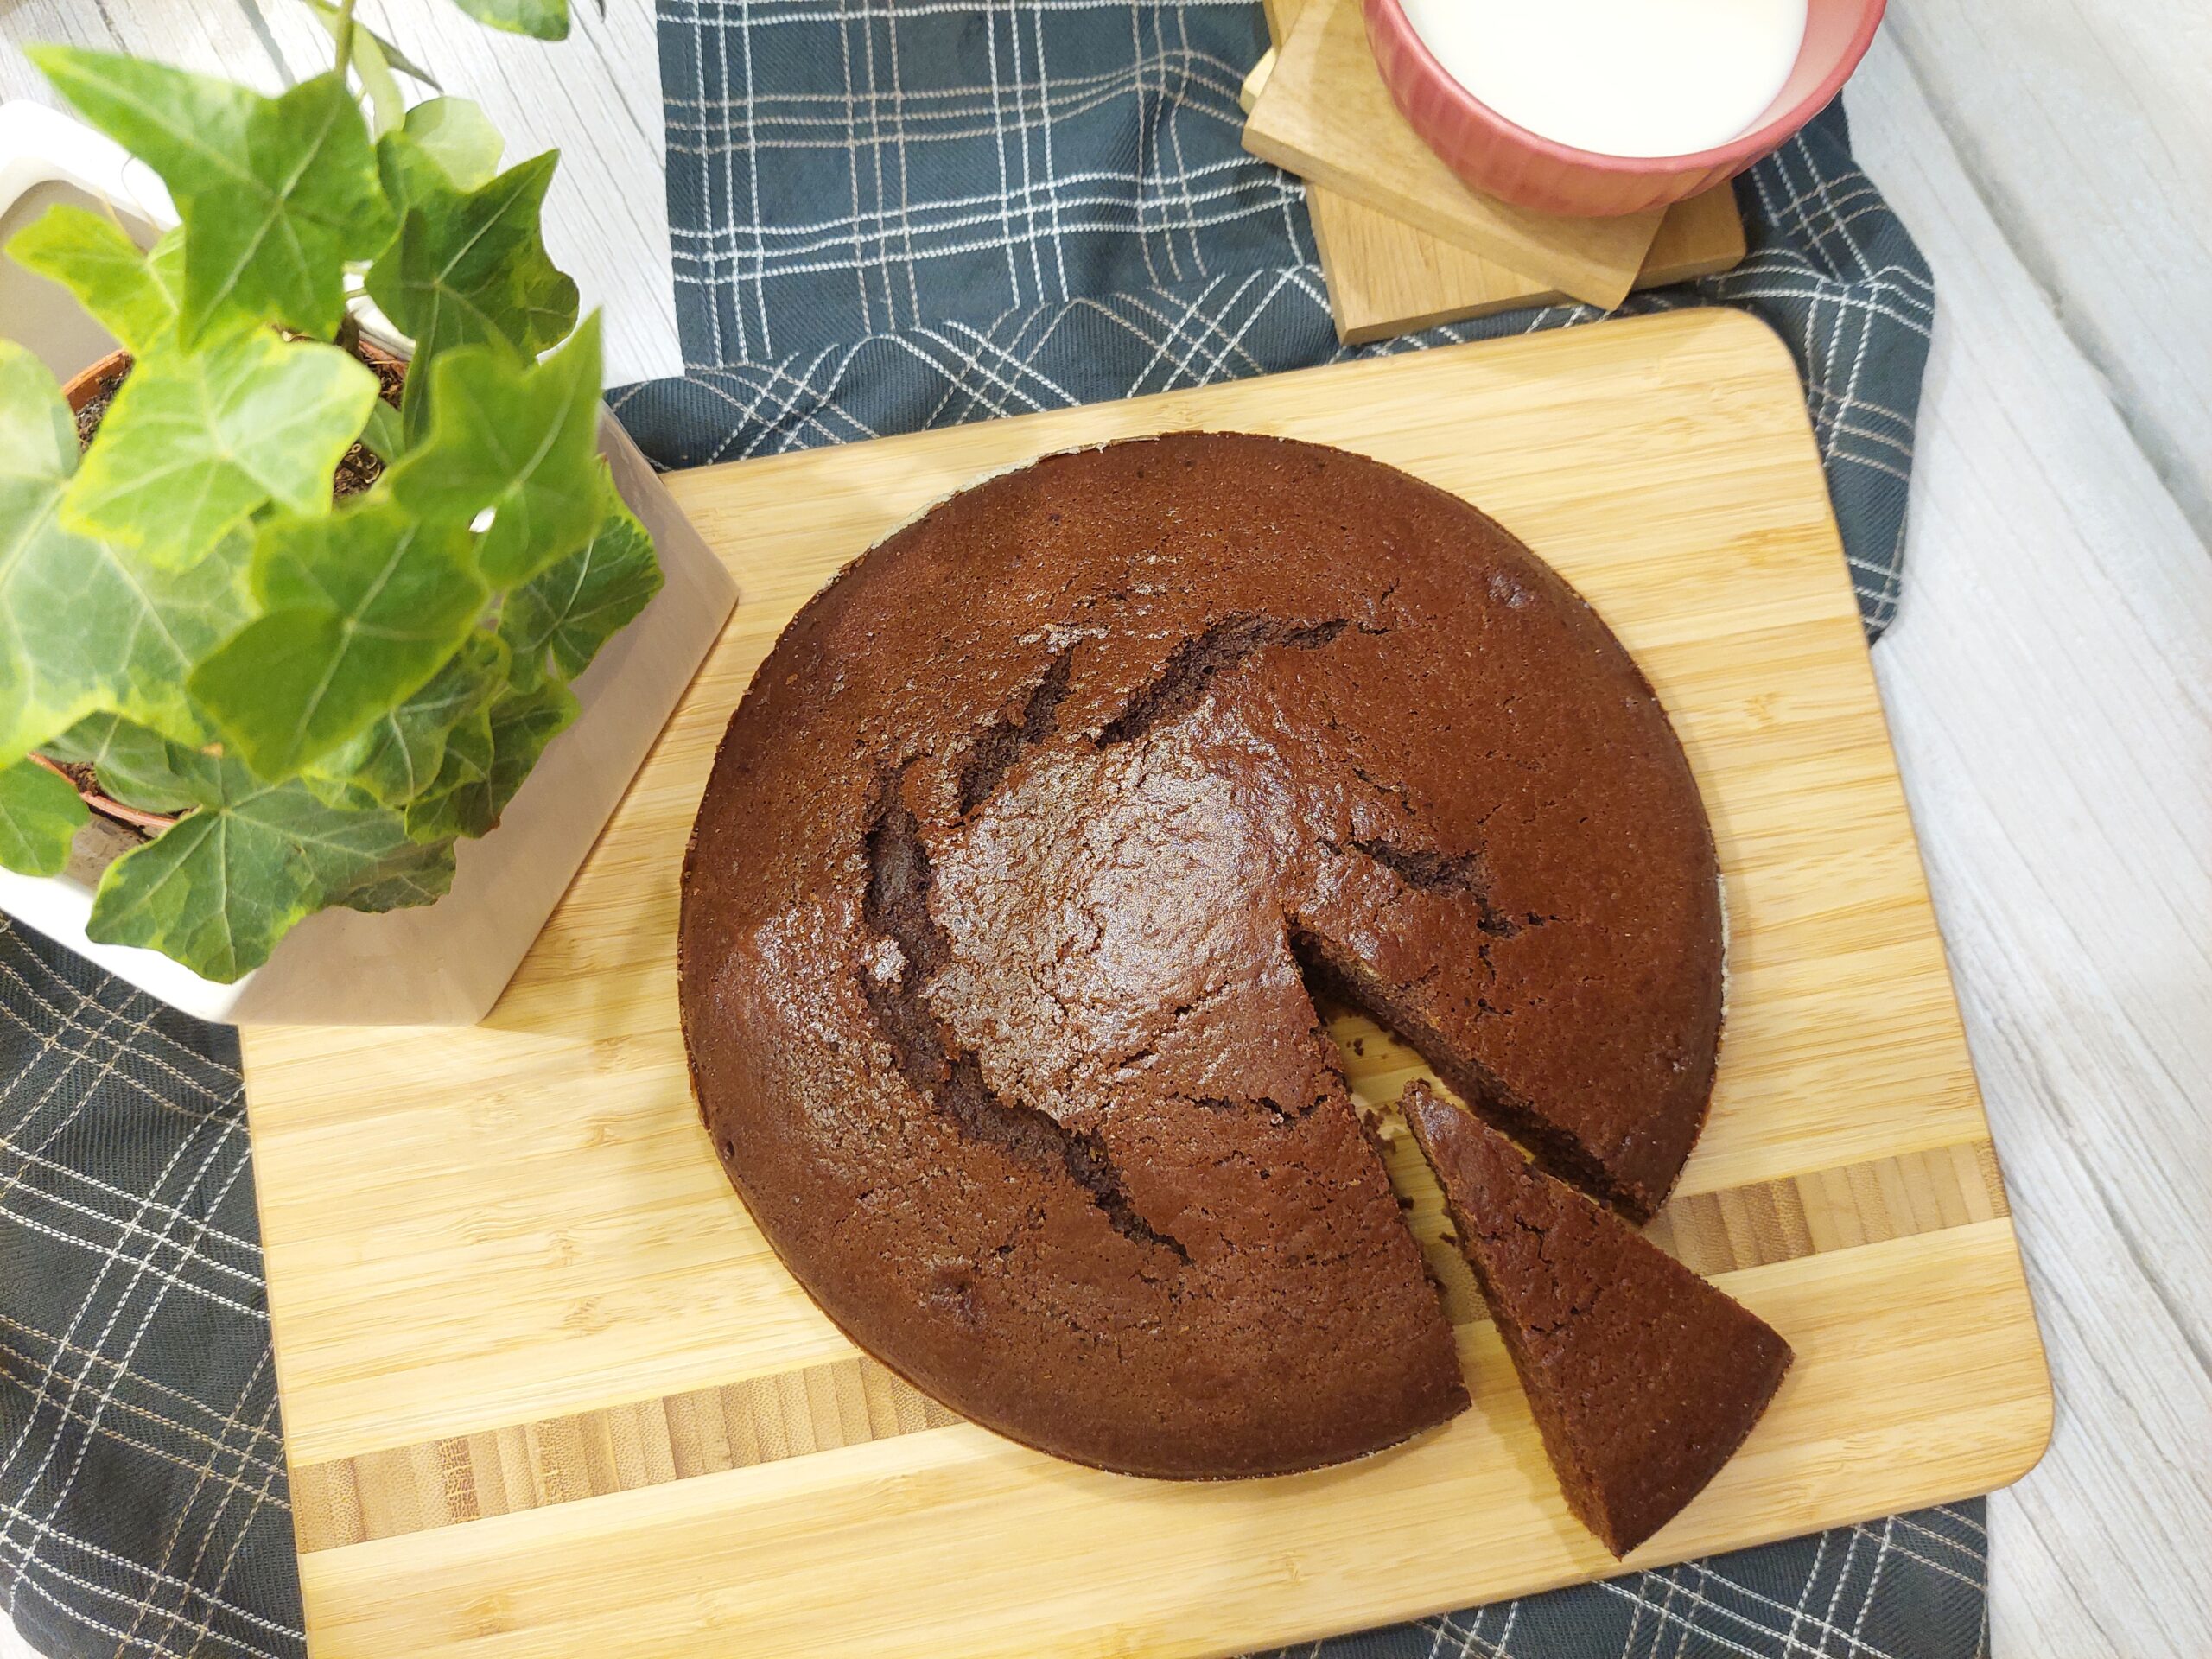
M303 1650L259 1241L237 1035L0 920L0 1601L33 1648Z

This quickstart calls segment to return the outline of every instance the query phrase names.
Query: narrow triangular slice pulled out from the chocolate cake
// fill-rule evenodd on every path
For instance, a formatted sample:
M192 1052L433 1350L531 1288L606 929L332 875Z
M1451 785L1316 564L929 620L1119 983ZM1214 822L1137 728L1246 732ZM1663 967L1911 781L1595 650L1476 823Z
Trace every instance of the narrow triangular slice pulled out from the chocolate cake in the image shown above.
M1568 1509L1626 1555L1743 1444L1790 1369L1790 1345L1427 1084L1409 1084L1400 1106Z

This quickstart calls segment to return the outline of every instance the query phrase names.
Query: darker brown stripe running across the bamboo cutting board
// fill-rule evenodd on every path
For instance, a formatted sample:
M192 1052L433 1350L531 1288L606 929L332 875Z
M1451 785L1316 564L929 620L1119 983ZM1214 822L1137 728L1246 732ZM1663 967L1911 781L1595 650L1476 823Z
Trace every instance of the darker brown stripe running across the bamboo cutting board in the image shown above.
M1416 1206L1444 1305L1482 1318L1436 1212ZM1646 1237L1701 1274L2011 1214L1986 1139L1679 1197ZM292 1473L301 1553L345 1548L960 1422L865 1354L542 1422L372 1451Z

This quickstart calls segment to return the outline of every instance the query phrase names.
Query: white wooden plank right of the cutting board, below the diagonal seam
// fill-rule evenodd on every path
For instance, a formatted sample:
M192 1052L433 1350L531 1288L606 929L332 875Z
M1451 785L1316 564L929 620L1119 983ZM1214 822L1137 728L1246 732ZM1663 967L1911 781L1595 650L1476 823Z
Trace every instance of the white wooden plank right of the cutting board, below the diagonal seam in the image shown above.
M2190 1659L2212 1628L2212 557L1891 42L1851 131L1938 290L1874 668L2059 1402L2042 1467L1989 1506L1993 1650Z

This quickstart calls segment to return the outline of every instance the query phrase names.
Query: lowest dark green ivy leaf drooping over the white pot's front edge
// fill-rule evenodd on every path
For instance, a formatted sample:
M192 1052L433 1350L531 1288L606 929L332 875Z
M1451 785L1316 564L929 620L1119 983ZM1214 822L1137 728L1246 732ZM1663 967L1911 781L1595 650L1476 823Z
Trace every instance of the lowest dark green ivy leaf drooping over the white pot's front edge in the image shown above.
M327 905L429 902L453 880L451 843L407 838L400 814L268 783L237 759L181 776L197 810L108 865L86 936L164 951L230 984Z

